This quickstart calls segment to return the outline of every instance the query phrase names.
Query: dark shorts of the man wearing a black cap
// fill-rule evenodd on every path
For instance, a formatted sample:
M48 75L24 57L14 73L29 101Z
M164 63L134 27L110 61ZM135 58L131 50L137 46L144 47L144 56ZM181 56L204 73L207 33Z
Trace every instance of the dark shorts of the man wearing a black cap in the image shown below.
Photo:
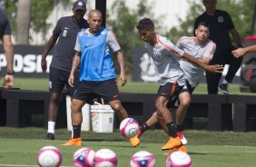
M74 95L79 83L79 71L74 73L74 87L71 87L68 84L70 72L59 70L54 67L50 67L50 76L49 76L49 90L51 93L62 93L64 86L66 86L66 91L71 96Z

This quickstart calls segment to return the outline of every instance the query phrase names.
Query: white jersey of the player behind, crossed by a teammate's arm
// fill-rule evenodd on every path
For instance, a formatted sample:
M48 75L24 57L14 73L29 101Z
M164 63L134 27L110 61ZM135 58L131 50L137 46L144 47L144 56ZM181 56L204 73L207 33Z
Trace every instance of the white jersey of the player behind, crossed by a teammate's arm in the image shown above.
M185 53L191 54L196 59L202 59L203 56L206 56L212 60L216 44L214 44L210 39L207 39L204 44L197 45L194 43L195 38L196 37L182 36L176 46L182 49ZM204 74L204 69L197 64L192 64L185 60L181 60L180 64L188 82L192 87L197 86Z

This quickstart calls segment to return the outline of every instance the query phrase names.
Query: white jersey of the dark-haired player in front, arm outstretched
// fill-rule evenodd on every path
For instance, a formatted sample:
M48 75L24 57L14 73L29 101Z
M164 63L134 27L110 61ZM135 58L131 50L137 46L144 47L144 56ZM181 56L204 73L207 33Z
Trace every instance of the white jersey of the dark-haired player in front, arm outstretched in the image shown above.
M148 53L156 65L158 74L161 77L161 84L175 83L185 84L185 75L179 64L184 51L172 44L167 38L156 34L157 43L152 46L146 43Z

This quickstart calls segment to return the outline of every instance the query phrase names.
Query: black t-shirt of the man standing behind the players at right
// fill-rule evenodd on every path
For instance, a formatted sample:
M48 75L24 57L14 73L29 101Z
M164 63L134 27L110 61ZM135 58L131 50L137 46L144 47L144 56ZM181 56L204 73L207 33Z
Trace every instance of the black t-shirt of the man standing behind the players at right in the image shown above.
M216 10L214 15L207 15L206 12L204 12L196 18L194 29L196 29L197 25L201 22L210 24L209 39L216 44L217 50L231 47L229 32L234 28L234 24L231 20L231 16L227 12Z

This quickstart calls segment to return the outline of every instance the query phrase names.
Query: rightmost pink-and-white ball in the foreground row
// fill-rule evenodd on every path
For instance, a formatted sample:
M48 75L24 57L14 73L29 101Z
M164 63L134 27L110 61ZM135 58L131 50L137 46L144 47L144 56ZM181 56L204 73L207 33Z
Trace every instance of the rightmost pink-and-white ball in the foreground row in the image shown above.
M188 153L186 152L172 152L166 160L166 167L191 167L192 160Z

